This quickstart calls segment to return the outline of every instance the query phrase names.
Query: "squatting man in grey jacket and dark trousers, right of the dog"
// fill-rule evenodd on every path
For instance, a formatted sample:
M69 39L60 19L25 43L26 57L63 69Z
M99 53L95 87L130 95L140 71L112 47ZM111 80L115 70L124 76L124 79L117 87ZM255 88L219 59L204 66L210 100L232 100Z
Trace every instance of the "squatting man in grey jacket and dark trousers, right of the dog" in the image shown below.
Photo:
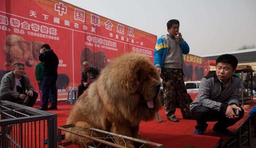
M216 60L216 73L201 79L199 93L190 104L197 125L194 134L203 135L207 121L218 121L213 130L234 136L228 126L243 118L244 110L239 106L241 80L234 75L238 61L231 54L223 54ZM238 111L238 112L235 112Z

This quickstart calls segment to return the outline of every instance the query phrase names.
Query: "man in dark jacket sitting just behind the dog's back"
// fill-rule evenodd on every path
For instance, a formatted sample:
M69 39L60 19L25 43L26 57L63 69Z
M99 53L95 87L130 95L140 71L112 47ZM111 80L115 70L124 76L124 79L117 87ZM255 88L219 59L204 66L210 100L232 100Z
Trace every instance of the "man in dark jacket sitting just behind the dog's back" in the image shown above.
M84 61L82 67L84 71L82 72L81 84L78 85L77 98L84 93L90 83L92 83L100 73L100 70L97 67L90 67L88 61Z

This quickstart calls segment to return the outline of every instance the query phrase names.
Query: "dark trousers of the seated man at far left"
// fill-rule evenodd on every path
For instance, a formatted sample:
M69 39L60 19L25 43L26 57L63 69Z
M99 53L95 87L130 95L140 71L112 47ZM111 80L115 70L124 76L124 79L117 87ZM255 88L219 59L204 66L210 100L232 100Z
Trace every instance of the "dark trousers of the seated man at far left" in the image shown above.
M36 102L37 97L38 97L38 94L35 91L33 91L33 96L27 95L24 100L22 100L21 98L14 98L7 92L0 94L0 100L7 100L9 102L23 104L23 105L30 106L30 107L34 106L34 103Z

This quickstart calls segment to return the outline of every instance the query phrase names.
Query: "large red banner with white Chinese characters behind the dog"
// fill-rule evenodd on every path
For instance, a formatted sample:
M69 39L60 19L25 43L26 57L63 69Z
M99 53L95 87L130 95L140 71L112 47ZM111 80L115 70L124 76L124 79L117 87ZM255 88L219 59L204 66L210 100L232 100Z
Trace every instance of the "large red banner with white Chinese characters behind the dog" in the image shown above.
M59 57L58 98L67 98L69 87L80 83L83 61L102 69L125 52L153 61L156 36L63 1L1 0L0 78L21 62L38 89L34 71L44 43Z

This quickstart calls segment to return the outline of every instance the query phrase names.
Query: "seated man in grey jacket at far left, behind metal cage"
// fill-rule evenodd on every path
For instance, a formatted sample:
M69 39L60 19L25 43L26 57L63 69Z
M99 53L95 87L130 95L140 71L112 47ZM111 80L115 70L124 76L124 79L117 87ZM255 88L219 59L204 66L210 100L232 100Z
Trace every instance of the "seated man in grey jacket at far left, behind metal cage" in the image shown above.
M13 69L3 75L0 85L0 100L7 100L32 107L38 94L25 75L25 65L13 64Z

